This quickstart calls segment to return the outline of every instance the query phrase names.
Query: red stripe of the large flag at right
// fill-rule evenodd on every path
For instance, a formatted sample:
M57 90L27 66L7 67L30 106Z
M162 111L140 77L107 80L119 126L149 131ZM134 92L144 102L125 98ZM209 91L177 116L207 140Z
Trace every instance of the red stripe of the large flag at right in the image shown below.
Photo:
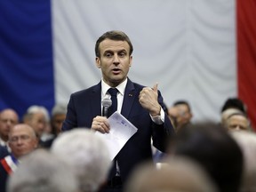
M256 1L236 0L238 97L256 130Z

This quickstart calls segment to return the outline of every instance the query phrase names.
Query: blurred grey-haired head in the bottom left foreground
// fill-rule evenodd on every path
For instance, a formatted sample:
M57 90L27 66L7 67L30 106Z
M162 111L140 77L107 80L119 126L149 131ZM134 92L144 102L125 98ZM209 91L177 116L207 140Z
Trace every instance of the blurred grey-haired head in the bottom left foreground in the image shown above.
M7 182L8 192L78 192L72 168L45 149L20 159Z

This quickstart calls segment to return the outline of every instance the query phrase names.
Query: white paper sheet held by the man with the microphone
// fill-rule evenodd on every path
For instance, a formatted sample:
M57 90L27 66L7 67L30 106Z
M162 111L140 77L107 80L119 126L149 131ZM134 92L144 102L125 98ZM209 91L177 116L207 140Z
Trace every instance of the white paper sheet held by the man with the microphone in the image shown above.
M137 128L117 111L108 117L109 133L95 132L106 140L111 159L113 160L124 144L137 132Z

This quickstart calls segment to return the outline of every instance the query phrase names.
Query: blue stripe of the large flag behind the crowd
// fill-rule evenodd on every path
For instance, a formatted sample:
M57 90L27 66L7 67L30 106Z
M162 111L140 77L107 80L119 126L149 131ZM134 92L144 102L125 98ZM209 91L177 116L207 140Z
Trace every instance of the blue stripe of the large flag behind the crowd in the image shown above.
M53 104L51 1L0 1L0 110Z

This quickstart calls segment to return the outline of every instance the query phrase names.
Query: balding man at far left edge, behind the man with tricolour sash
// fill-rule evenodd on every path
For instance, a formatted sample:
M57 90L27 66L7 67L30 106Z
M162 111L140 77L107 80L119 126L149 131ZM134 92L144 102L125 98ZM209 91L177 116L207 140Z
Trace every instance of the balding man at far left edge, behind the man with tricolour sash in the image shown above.
M0 112L0 146L8 149L7 145L10 129L19 123L19 116L12 108L5 108Z

